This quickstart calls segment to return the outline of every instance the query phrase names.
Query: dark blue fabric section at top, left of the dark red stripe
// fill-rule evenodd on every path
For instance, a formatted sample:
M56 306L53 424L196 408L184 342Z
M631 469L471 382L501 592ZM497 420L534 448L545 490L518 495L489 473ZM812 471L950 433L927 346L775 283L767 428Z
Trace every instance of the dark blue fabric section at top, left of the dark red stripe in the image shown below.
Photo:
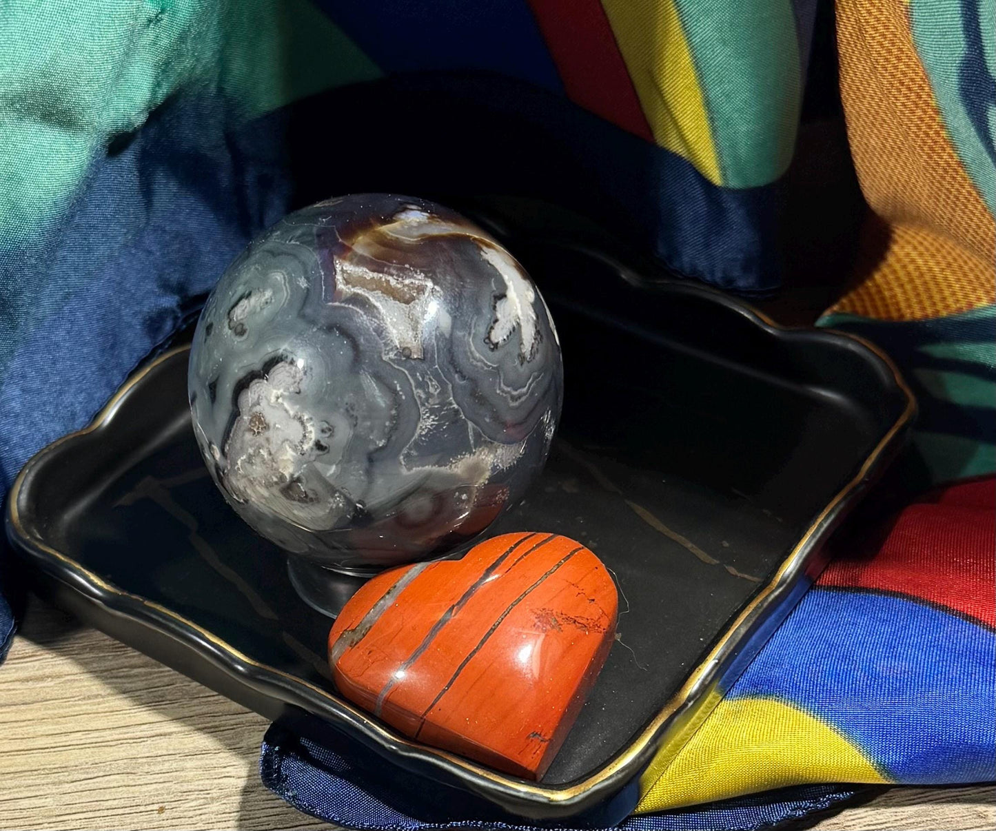
M526 0L316 0L386 73L500 73L563 92Z

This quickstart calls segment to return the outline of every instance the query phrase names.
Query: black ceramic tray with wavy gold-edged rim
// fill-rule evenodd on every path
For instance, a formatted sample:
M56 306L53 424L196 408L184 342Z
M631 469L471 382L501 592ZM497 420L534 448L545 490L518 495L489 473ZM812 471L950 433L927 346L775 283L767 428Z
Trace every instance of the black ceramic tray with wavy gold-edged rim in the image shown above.
M819 572L821 543L914 405L888 360L853 337L780 329L577 247L514 250L557 320L566 400L541 480L490 532L576 537L622 595L620 640L542 781L402 738L337 697L331 621L207 476L185 347L21 473L8 531L39 588L267 718L344 731L512 813L568 816L620 793L655 753L677 750Z

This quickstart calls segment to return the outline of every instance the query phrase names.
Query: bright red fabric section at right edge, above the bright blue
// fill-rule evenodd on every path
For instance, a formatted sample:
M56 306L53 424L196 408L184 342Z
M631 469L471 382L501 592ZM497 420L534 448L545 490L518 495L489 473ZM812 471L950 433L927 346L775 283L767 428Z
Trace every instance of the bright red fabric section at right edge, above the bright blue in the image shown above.
M874 547L838 551L818 584L896 592L996 626L996 479L907 506Z

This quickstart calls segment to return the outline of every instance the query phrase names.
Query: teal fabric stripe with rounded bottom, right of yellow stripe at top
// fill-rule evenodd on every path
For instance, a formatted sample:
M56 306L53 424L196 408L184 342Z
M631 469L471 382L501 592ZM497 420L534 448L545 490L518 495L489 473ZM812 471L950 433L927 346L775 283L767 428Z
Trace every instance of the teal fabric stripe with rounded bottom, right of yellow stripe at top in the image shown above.
M755 187L792 160L802 103L791 0L675 0L719 156L723 185Z

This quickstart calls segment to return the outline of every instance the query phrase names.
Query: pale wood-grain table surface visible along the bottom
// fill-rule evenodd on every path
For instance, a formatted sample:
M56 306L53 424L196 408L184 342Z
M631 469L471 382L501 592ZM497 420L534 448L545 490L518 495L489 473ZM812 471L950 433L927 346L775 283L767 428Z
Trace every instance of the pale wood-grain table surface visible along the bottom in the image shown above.
M331 826L271 794L267 722L40 601L0 668L0 829ZM891 788L794 829L993 829L996 788Z

